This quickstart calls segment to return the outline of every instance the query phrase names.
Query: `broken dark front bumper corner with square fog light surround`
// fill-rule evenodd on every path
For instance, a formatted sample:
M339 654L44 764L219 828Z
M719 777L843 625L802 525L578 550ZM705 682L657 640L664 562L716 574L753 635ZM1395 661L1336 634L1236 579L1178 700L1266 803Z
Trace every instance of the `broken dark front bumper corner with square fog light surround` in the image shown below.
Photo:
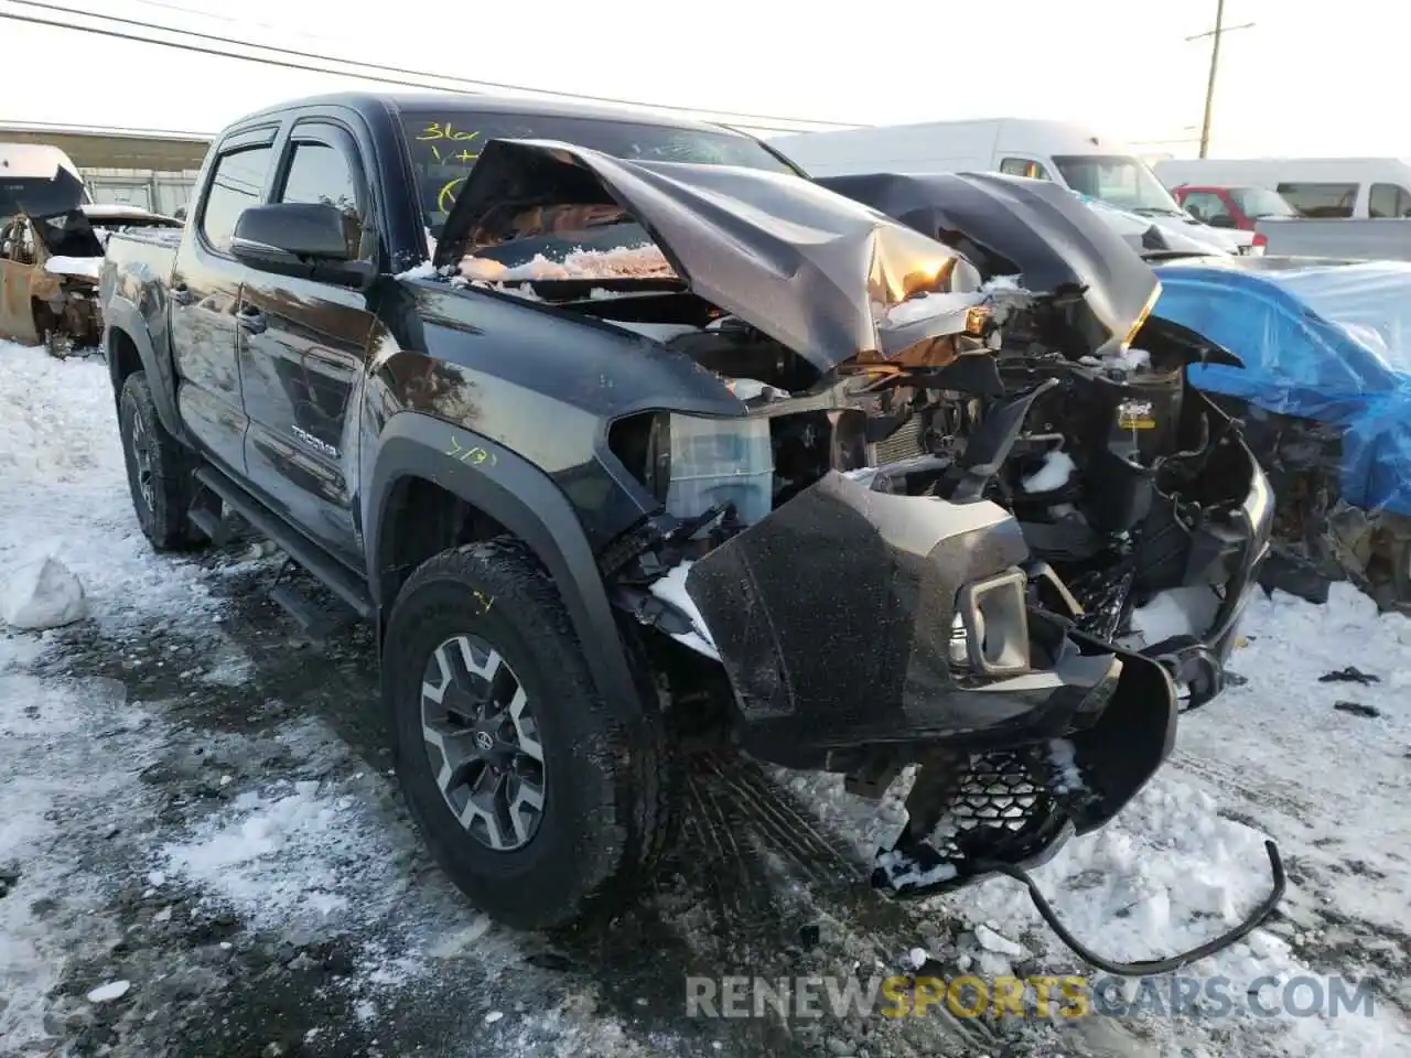
M1041 745L1126 698L1146 698L1165 745L1174 691L1160 666L1036 605L1029 566L1019 523L995 504L830 474L694 563L686 591L729 676L742 741L768 760Z

